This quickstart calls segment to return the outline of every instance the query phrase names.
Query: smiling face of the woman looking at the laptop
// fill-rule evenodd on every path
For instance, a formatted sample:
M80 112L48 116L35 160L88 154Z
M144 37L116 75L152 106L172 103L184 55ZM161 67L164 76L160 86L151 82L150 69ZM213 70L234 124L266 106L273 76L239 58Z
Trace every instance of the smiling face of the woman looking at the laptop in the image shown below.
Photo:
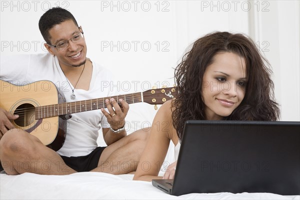
M244 58L219 52L203 74L202 97L207 120L220 120L240 104L247 83Z

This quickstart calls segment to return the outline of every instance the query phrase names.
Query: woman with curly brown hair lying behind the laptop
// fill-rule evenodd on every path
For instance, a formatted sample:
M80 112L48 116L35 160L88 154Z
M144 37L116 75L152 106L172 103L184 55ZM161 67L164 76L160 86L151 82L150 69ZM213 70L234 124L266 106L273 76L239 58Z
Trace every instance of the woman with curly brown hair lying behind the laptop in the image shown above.
M197 120L277 120L268 62L243 34L213 32L197 39L175 68L177 97L157 111L134 180L158 172L169 141L179 149L183 125ZM143 164L147 162L146 169ZM163 178L173 178L176 161Z

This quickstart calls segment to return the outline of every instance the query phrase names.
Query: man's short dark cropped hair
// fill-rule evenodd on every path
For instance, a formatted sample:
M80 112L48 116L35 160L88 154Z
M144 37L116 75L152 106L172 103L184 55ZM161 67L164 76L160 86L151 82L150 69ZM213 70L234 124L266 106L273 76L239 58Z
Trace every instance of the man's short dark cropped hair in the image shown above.
M78 26L75 17L66 9L61 7L52 7L48 9L38 21L39 31L44 38L44 40L50 43L50 34L49 29L51 29L54 25L59 24L66 20L72 20L76 26Z

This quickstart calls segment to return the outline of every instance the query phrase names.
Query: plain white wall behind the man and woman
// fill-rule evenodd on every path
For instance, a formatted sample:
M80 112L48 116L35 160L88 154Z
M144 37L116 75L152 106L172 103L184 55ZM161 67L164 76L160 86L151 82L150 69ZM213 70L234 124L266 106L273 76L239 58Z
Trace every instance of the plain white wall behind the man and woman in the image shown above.
M87 56L115 72L120 93L172 85L186 47L210 31L249 34L272 65L281 120L300 120L297 0L1 0L1 55L44 52L38 20L57 5L82 25ZM146 103L130 110L131 130L146 127L155 114Z

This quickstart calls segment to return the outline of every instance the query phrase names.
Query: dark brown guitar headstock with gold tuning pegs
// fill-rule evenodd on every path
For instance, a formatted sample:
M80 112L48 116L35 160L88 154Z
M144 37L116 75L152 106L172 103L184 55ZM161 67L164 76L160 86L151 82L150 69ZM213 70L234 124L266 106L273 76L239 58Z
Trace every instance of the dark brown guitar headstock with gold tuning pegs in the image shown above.
M175 96L175 89L176 87L163 87L163 88L155 88L155 89L148 89L143 91L143 102L157 105L162 104L165 101L172 99Z

